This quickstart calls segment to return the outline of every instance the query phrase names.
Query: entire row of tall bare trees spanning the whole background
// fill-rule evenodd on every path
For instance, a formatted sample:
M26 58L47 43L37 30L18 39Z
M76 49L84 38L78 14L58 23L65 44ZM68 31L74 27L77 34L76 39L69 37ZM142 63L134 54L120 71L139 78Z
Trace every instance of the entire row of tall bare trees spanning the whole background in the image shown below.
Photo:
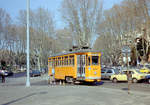
M103 10L102 0L62 0L60 12L65 28L57 29L49 10L30 10L31 64L47 65L51 54L78 45L100 50L102 62L117 65L124 44L128 43L138 55L134 39L143 35L143 26L149 41L149 11L150 0L124 0L109 10ZM0 60L22 65L26 62L26 11L20 10L16 18L14 22L0 9Z

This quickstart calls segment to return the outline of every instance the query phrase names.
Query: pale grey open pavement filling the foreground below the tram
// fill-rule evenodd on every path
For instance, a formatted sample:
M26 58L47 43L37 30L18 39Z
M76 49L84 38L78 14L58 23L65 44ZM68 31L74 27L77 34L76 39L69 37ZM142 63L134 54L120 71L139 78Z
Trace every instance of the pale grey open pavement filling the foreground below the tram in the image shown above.
M149 105L150 92L102 86L2 86L0 105Z

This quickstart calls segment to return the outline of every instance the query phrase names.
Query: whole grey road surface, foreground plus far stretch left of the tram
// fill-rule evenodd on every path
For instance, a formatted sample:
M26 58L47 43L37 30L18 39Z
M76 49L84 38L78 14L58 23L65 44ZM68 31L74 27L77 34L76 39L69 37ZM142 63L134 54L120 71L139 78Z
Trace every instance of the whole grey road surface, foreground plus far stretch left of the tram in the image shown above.
M0 83L0 105L149 105L150 85L137 83L127 92L127 83L103 80L99 85L48 85L47 76L30 78L19 73Z

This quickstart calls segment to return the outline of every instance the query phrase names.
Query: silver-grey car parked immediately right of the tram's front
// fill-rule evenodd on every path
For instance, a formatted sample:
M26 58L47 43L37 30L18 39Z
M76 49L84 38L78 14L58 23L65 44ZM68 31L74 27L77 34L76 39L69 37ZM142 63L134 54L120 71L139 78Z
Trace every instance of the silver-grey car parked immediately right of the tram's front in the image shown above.
M101 79L110 79L111 75L118 74L119 70L114 68L103 68L101 70Z

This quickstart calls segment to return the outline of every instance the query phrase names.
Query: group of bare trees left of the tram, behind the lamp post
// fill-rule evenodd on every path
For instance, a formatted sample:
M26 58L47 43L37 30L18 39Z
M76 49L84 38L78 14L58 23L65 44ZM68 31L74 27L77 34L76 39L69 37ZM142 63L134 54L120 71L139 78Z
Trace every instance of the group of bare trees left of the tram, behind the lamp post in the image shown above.
M7 64L26 64L26 11L21 10L17 23L0 9L0 60ZM30 62L36 66L47 65L52 54L55 27L52 14L43 8L30 11ZM53 48L54 49L54 48Z

